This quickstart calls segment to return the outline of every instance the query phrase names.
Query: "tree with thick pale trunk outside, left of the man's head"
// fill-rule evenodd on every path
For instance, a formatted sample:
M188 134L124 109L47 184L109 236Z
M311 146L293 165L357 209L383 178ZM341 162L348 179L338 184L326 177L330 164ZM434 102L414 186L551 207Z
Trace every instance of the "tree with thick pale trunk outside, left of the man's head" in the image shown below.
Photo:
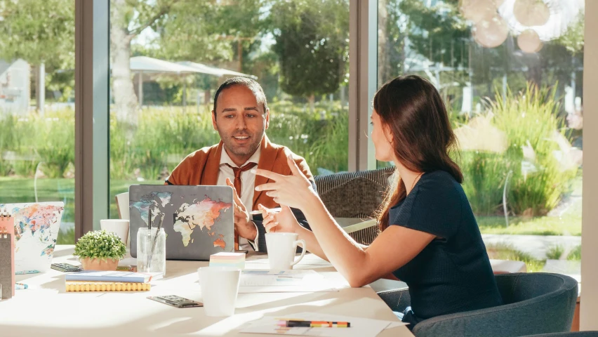
M260 0L112 0L112 91L117 119L137 124L138 103L133 91L129 59L131 42L144 29L157 33L157 50L166 60L205 62L233 58L235 39L259 31Z

